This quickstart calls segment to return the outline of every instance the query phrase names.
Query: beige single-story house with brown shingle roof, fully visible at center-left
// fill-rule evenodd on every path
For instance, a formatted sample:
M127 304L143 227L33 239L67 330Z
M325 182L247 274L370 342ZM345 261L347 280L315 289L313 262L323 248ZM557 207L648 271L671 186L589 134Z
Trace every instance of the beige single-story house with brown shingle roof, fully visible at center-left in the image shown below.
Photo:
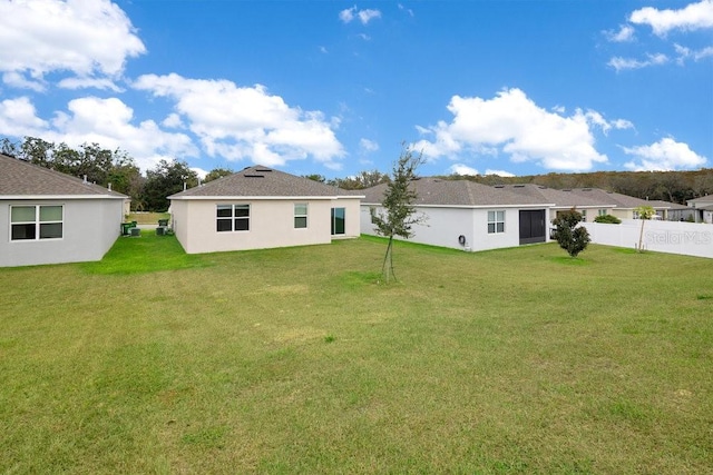
M358 237L362 197L255 166L168 199L178 241L197 254Z

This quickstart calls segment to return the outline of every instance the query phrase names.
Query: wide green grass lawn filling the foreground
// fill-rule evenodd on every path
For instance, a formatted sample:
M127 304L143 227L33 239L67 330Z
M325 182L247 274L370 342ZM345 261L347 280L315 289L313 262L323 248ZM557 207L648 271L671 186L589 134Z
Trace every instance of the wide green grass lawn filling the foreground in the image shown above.
M707 473L713 261L384 241L0 269L0 473Z

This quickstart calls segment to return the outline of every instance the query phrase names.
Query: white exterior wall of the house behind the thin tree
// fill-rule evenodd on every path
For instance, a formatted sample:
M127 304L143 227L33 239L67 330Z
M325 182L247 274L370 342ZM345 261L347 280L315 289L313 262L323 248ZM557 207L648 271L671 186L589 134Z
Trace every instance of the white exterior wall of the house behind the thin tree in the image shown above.
M365 235L377 236L369 209L370 206L362 205L361 230ZM428 216L428 219L423 225L413 226L414 236L409 239L413 243L470 251L515 247L520 244L519 208L417 207L417 210ZM488 211L494 210L505 211L505 232L488 234ZM458 243L461 235L466 237L465 246Z

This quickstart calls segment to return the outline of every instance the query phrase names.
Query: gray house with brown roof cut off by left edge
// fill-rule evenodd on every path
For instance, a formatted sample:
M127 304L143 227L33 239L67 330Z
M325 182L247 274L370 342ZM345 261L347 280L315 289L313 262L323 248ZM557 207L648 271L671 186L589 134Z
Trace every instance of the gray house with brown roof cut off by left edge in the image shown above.
M0 154L0 267L100 260L125 195Z

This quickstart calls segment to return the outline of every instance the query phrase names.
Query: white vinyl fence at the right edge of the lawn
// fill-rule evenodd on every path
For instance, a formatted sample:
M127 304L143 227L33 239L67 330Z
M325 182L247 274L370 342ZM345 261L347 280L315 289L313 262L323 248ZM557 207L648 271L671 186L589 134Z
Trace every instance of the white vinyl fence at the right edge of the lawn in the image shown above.
M713 258L713 225L703 222L645 220L642 247L657 253ZM637 248L641 219L624 219L621 225L583 222L592 243Z

